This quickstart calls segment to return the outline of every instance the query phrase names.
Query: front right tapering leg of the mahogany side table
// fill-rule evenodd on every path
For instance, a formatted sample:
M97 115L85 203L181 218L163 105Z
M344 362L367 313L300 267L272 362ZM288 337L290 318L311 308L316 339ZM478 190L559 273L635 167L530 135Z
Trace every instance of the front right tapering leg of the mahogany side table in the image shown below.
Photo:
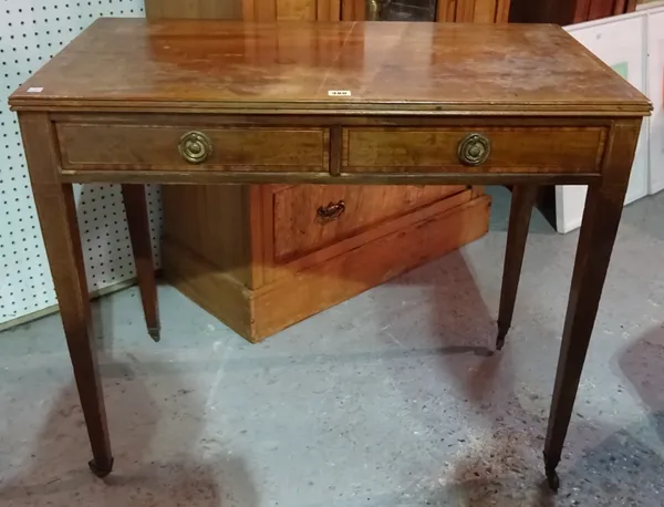
M544 443L547 478L553 489L559 486L556 468L560 463L618 234L640 126L640 120L614 123L604 156L602 179L589 186L585 198Z

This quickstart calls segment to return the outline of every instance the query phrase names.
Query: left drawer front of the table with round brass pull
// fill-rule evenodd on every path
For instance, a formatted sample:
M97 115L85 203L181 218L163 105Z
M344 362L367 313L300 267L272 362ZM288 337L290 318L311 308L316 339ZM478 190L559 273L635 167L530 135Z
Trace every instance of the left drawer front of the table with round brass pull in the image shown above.
M324 128L56 125L64 169L328 172Z

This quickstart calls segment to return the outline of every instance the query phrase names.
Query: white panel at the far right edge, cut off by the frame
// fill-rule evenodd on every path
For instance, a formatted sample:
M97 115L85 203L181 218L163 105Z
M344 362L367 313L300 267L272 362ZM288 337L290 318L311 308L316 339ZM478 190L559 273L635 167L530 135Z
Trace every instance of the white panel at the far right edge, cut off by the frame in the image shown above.
M664 188L664 11L649 14L647 93L650 118L650 194Z

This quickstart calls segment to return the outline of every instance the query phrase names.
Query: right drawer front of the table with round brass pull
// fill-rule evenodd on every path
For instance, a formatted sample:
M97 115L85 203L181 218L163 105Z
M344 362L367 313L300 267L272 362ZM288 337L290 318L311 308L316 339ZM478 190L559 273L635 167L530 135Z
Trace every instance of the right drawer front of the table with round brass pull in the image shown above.
M342 172L598 173L605 137L601 126L346 128Z

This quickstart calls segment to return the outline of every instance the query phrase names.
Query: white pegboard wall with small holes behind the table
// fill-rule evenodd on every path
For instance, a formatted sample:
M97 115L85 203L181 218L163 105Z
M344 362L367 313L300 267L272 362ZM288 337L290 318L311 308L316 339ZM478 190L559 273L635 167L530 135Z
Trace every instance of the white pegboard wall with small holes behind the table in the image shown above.
M142 17L143 0L0 0L0 327L56 304L15 114L7 97L98 17ZM134 277L120 186L77 185L79 225L91 291ZM155 261L158 187L148 187Z

